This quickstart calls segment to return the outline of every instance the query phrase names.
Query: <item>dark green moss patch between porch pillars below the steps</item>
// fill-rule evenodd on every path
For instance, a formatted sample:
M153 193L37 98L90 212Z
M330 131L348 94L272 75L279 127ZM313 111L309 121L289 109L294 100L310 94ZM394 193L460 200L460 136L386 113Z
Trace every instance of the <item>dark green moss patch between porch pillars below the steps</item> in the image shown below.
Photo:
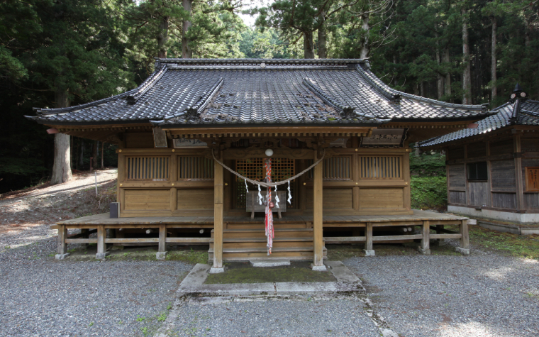
M282 267L252 267L250 263L227 263L225 272L210 274L204 284L263 282L336 282L331 272L315 272L311 262L292 262Z

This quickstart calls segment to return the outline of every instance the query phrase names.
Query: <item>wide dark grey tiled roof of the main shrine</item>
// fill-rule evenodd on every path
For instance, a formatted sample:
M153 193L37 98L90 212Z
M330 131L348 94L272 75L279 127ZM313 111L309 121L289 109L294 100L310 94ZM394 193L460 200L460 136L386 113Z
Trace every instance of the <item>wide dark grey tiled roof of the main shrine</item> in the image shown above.
M137 89L89 104L35 109L44 124L352 123L474 119L485 106L398 92L365 60L160 59Z

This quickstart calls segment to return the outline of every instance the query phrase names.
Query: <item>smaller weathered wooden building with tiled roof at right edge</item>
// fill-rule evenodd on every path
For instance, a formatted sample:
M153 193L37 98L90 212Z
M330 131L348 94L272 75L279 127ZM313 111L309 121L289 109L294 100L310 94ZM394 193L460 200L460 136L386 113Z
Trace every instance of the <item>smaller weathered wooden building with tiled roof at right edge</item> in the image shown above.
M445 149L448 211L482 218L539 222L539 101L515 88L497 114L418 143Z

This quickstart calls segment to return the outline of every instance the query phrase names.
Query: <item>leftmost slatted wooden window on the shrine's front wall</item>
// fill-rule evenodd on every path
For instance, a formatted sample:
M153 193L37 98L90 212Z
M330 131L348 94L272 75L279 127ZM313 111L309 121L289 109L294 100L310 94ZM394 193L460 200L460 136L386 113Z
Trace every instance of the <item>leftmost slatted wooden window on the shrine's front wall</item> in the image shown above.
M127 179L166 181L169 157L128 157Z

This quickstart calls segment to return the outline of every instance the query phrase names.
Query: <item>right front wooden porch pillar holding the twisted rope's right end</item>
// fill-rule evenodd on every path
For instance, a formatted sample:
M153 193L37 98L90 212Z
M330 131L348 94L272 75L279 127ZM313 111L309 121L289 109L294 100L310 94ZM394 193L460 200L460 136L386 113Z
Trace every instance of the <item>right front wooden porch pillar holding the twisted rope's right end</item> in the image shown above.
M315 158L315 160L317 160ZM323 264L323 161L314 167L313 172L313 270L326 270Z

